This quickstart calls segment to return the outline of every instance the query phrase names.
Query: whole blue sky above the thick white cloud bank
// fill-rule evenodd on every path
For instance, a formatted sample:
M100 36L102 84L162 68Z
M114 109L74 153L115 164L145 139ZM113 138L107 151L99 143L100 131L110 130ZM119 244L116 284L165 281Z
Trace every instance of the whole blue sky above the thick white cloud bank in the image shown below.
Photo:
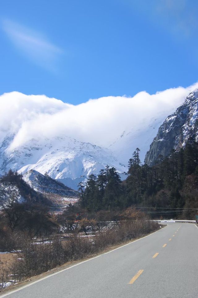
M78 104L198 80L197 1L6 0L0 8L0 94Z

